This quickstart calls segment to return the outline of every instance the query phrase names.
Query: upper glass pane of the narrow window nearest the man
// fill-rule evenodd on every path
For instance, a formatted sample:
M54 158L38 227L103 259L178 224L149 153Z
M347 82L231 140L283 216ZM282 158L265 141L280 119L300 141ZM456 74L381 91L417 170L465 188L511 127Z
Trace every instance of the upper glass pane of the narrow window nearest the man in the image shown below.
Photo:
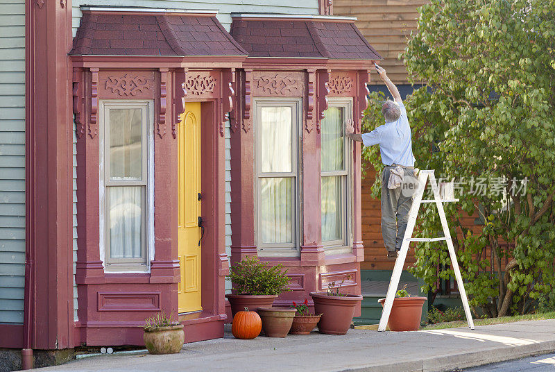
M343 108L330 107L322 120L322 171L342 171Z

